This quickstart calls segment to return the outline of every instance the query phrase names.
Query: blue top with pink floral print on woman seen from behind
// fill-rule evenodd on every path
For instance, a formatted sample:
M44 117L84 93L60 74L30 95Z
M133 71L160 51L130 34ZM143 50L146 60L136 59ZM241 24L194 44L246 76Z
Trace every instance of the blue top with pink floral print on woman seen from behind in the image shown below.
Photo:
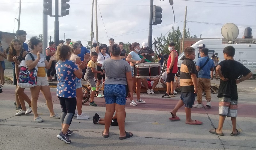
M58 77L57 96L76 97L76 76L74 74L74 71L78 70L76 62L70 60L58 61L55 68Z

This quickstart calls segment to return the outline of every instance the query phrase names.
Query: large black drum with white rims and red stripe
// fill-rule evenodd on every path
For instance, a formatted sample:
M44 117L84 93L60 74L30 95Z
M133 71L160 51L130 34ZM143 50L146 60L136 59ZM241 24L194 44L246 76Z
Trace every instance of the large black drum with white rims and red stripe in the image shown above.
M158 62L146 62L134 65L134 76L140 79L160 77L161 68Z

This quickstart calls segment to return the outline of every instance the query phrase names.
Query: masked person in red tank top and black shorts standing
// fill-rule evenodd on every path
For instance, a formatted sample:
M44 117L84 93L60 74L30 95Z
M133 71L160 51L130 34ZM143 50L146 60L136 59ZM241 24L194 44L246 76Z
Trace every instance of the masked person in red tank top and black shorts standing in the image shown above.
M169 43L168 49L170 55L167 61L167 78L166 78L166 93L162 98L175 97L174 90L174 76L178 71L178 53L175 50L175 44L173 42Z

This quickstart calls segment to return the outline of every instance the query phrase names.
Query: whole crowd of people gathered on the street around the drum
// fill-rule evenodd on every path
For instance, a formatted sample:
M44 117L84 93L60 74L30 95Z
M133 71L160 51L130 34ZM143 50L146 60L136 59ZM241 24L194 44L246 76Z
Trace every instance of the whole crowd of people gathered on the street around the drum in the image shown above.
M202 108L202 92L206 94L206 106L211 108L211 79L210 71L216 72L220 76L220 91L218 94L220 101L220 120L219 127L210 130L211 133L217 135L224 135L222 127L225 117L231 117L233 132L231 135L236 136L239 132L236 130L237 117L237 89L236 84L248 79L252 76L252 72L245 68L242 64L234 61L235 48L227 46L223 50L225 61L219 63L218 57L209 58L209 50L205 48L204 44L199 45L200 57L196 64L193 60L196 57L196 52L193 47L187 47L184 50L186 58L181 64L180 81L175 75L178 71L178 53L175 50L175 44L169 43L168 49L170 51L169 58L166 64L166 71L161 77L153 79L140 79L134 75L134 65L143 62L151 62L152 56L155 56L151 47L147 43L140 44L137 42L129 46L129 54L123 49L124 43L116 44L114 39L109 39L109 46L102 44L98 46L97 41L92 42L93 48L88 51L81 41L72 41L71 39L60 40L58 46L55 42L49 42L49 46L45 49L46 57L42 53L42 42L36 37L32 37L29 43L26 44L26 32L18 30L16 32L16 39L13 39L8 49L4 50L0 47L0 73L1 85L4 84L4 62L7 59L13 65L13 84L15 89L15 116L27 115L31 112L34 114L34 121L43 122L37 113L37 100L40 91L46 99L47 107L50 111L50 118L60 119L62 130L57 135L57 138L70 143L68 136L73 134L69 130L73 116L77 113L76 119L89 119L82 112L82 83L84 79L92 90L89 106L98 106L94 102L94 94L97 86L104 82L103 94L98 97L104 97L106 103L105 118L100 118L96 113L93 117L94 124L104 124L105 128L102 131L104 138L109 137L109 128L113 120L119 126L119 139L126 139L132 137L131 132L125 131L125 104L127 98L130 99L130 105L137 106L138 104L145 104L141 99L140 89L144 87L148 94L155 94L154 88L159 80L163 87L166 88L166 93L163 98L173 97L177 94L176 88L181 89L180 100L175 108L171 111L171 121L180 120L177 116L177 111L185 105L186 124L201 125L199 120L191 119L191 108ZM66 44L64 44L66 42ZM1 44L1 41L0 41ZM29 51L28 51L29 50ZM141 59L141 57L146 59ZM158 56L159 61L163 62L163 57ZM22 61L26 62L29 69L38 68L36 75L36 86L31 87L31 100L26 93L25 88L21 88L17 83L19 81L19 68ZM161 63L161 65L165 65ZM113 67L115 66L115 67ZM232 68L236 66L236 68ZM47 71L45 72L45 69ZM231 72L231 73L230 73ZM244 77L236 80L236 76L243 72ZM176 82L174 82L174 79ZM56 96L60 100L61 115L58 115L53 110L52 96L48 82L58 81L56 88ZM133 93L136 93L136 101L133 99ZM197 103L194 105L197 94ZM28 103L26 108L25 101ZM76 111L77 109L77 111ZM115 113L116 112L116 113ZM115 115L114 115L115 114Z

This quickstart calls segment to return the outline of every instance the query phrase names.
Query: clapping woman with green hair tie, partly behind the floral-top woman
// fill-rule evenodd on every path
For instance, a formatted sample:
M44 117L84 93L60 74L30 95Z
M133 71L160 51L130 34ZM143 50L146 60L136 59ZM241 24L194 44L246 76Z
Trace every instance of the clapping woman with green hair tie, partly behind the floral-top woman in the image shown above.
M72 54L69 60L76 62L76 64L79 64L79 63L81 64L82 61L78 56L78 54L81 53L81 45L78 42L72 41L70 42L69 46L72 49ZM86 53L86 55L84 55L85 63L89 60L89 56L90 56L89 53ZM82 112L82 101L83 101L82 82L81 82L81 78L76 77L76 108L77 108L76 119L89 119L90 116L87 116Z

